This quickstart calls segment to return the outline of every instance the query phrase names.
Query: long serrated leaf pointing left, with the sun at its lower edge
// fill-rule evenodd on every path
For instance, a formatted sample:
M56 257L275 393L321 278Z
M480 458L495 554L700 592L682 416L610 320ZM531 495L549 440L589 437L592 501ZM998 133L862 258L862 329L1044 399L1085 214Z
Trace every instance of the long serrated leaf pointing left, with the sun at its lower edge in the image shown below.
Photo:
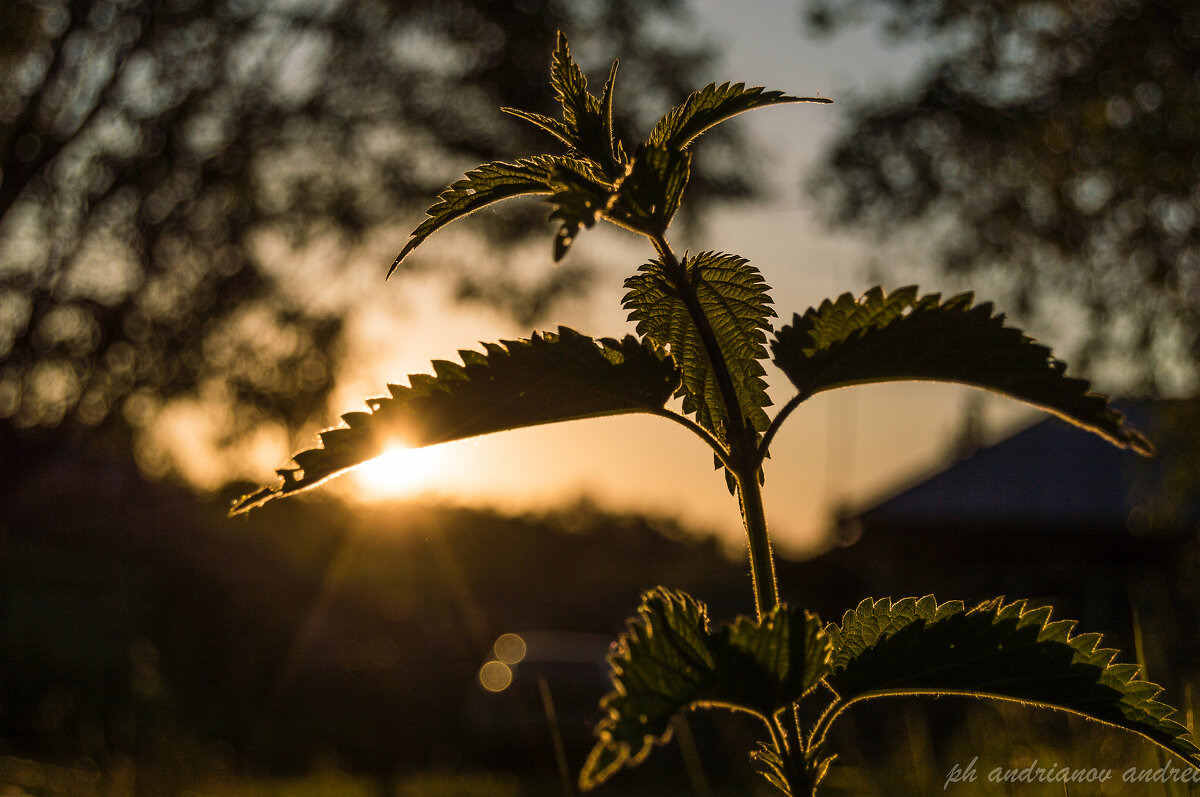
M434 360L436 376L414 374L409 386L389 385L390 397L371 412L342 417L346 426L320 433L320 448L300 451L282 484L246 496L233 511L313 487L384 453L523 426L661 409L679 384L673 360L632 336L593 340L560 326L529 340L460 352L462 365Z

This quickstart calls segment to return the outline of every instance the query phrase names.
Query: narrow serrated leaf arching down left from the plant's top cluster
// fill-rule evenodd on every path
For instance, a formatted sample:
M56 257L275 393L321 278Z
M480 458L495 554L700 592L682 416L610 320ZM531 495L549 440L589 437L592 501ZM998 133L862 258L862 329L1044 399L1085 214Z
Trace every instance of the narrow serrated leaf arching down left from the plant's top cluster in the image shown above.
M425 239L452 221L468 216L480 208L522 194L551 193L550 178L565 158L539 155L521 158L515 163L494 161L484 163L456 180L438 194L426 215L428 218L416 226L396 256L388 275L396 270L408 253L425 242Z

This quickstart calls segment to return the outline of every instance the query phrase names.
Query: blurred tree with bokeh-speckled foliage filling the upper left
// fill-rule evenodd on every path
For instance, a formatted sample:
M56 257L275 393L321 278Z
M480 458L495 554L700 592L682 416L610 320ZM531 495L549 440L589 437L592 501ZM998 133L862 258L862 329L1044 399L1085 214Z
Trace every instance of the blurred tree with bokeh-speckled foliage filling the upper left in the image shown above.
M233 437L294 429L323 409L343 308L289 293L264 240L349 251L407 232L463 164L523 155L528 126L496 107L551 112L559 28L586 65L622 54L640 89L620 124L648 125L708 58L671 32L684 16L679 0L0 0L0 418L130 444L164 402L202 396L236 408ZM748 194L737 139L714 146L692 190ZM487 214L488 232L511 242L522 212L544 211ZM486 289L480 266L460 294L532 323L581 271L522 293Z

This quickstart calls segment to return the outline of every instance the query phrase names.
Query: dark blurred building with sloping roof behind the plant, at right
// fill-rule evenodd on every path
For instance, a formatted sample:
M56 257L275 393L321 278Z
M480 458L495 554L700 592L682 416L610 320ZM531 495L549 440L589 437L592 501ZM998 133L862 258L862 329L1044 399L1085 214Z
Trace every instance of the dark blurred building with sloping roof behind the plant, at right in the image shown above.
M799 583L827 587L816 604L842 604L830 618L863 595L1027 598L1142 655L1151 678L1182 677L1195 660L1200 411L1122 411L1156 457L1050 417L992 445L966 435L948 465L845 513L840 546L799 565Z

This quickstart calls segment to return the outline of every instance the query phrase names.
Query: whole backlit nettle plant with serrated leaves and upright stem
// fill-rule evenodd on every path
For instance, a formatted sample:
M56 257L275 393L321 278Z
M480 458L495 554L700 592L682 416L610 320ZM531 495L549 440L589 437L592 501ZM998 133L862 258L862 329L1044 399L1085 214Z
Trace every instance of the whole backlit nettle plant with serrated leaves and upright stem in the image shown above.
M494 202L541 194L559 223L554 259L599 220L642 235L655 258L625 281L624 306L637 335L593 338L560 326L528 340L434 360L433 376L389 385L370 412L342 417L320 447L278 471L282 483L240 499L244 513L364 463L395 441L433 445L476 435L620 413L649 413L683 425L712 448L742 508L756 617L713 624L704 604L664 587L642 595L637 617L608 661L613 691L601 701L596 743L580 774L593 789L667 742L674 714L698 708L745 712L766 733L750 755L787 795L812 795L835 757L830 726L858 701L890 695L965 695L1081 714L1138 733L1200 766L1188 729L1154 700L1160 688L1098 634L1050 621L1050 609L997 598L974 607L932 597L863 600L838 623L779 600L763 511L763 461L791 413L812 395L901 379L956 382L1032 403L1115 445L1150 455L1105 396L1064 374L1050 349L1006 326L970 294L941 299L916 288L860 298L844 294L772 330L769 288L736 254L677 254L666 232L688 185L692 145L707 130L792 97L743 84L710 84L670 110L646 143L613 134L617 64L600 97L562 35L551 83L562 119L506 113L557 139L562 155L493 162L449 186L413 232L396 266L430 234ZM391 271L389 271L391 274ZM769 353L768 353L768 335ZM767 358L796 394L767 414ZM667 407L682 398L682 413Z

